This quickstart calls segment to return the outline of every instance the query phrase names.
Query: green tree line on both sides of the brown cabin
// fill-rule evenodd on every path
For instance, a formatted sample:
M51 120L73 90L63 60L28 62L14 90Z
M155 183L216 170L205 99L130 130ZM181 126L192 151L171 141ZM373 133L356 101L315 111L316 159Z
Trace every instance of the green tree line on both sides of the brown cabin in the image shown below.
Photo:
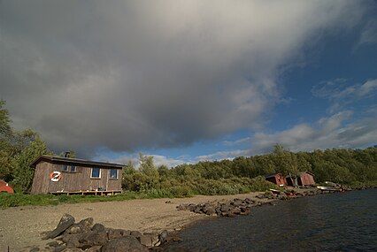
M0 179L19 192L28 192L34 169L29 165L40 155L53 153L34 130L15 130L9 111L0 101ZM272 153L233 160L156 166L153 157L140 155L140 166L131 162L123 169L122 186L156 196L228 195L275 187L265 174L295 175L309 171L316 182L357 185L377 184L377 147L292 152L276 145Z

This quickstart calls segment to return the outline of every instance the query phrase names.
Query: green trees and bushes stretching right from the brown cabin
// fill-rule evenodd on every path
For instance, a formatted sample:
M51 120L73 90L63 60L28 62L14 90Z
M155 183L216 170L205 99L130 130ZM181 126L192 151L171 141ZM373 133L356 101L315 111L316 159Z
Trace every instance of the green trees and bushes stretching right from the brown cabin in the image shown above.
M128 163L123 187L130 191L156 190L165 195L227 195L274 187L265 175L312 172L317 183L332 181L349 186L377 185L377 148L326 149L291 152L276 145L270 154L233 160L155 167L153 157L140 155L140 167Z

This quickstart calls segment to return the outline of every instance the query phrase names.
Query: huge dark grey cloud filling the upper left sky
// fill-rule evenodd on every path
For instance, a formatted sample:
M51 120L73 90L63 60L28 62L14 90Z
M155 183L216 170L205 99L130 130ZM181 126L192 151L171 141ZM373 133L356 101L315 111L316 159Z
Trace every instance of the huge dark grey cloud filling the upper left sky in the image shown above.
M1 91L57 149L169 147L262 125L281 66L352 1L2 1Z

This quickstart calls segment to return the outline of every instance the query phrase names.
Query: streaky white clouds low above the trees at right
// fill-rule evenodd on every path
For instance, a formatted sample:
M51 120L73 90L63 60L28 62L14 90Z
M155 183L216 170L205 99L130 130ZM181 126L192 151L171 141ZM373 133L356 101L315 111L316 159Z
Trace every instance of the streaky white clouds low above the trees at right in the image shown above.
M254 134L250 137L250 149L219 151L196 157L196 160L232 159L265 154L272 151L275 144L282 144L292 151L373 146L377 144L377 111L374 109L369 113L358 121L349 122L352 112L342 111L328 118L320 118L314 125L298 124L273 134Z

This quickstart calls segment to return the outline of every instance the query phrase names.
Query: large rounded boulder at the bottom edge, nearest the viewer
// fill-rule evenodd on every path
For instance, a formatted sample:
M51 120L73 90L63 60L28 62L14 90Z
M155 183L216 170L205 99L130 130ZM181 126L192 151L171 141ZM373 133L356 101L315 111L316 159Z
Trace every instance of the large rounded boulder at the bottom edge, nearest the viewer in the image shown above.
M134 236L121 237L107 242L101 248L101 252L139 252L149 251L147 247L140 244Z

